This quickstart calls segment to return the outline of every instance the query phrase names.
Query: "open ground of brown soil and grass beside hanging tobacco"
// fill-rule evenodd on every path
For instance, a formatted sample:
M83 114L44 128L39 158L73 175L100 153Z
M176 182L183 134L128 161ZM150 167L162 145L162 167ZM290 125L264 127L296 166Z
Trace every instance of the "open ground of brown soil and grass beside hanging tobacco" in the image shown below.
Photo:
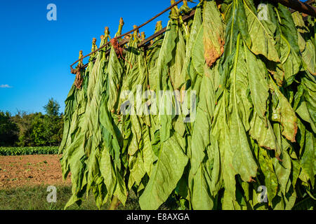
M57 202L48 203L47 187L57 188ZM0 210L60 210L72 196L70 176L62 180L58 155L15 155L0 156ZM108 209L109 203L101 209ZM174 204L163 204L169 209ZM67 209L96 210L93 195L82 202L81 207L73 204ZM126 207L117 209L140 209L136 195L131 192Z

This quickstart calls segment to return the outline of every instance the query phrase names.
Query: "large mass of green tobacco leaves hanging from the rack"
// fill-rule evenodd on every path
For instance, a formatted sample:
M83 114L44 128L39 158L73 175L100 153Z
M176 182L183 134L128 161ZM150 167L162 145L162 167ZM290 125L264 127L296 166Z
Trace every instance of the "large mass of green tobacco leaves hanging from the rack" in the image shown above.
M184 1L149 45L91 55L65 101L66 207L133 190L141 209L313 209L315 18L271 2Z

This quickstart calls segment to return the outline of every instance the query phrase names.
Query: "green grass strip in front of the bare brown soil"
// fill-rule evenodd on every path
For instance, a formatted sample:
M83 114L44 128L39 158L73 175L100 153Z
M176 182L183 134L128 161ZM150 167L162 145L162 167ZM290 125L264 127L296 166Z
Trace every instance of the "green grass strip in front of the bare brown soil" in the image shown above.
M71 186L56 186L57 202L48 203L46 197L48 195L47 186L21 187L15 189L0 190L0 210L62 210L65 204L72 196ZM86 198L86 197L85 197ZM105 204L101 209L108 209L110 203ZM89 195L79 207L73 204L70 210L98 210L93 195ZM139 210L138 198L131 192L125 207L121 204L117 208L119 210ZM176 209L173 202L163 204L159 209L168 210Z

